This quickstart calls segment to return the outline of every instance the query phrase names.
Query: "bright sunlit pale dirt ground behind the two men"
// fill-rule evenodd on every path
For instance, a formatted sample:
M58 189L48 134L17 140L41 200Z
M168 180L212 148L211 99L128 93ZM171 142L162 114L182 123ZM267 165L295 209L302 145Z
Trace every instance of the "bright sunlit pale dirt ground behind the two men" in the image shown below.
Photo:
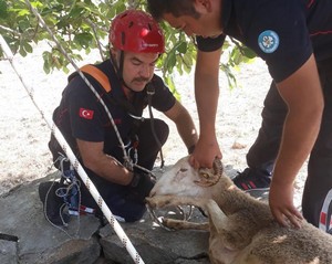
M15 67L28 86L28 92L8 61L0 61L0 196L18 184L27 183L54 171L48 150L50 128L41 113L32 103L37 102L48 122L60 102L62 89L66 84L66 74L53 72L45 74L42 68L42 51L38 46L27 57L14 56ZM86 56L84 63L93 63L95 54ZM246 168L246 154L253 142L260 127L262 102L270 83L266 64L256 60L243 65L237 73L239 87L230 91L226 76L220 73L220 98L217 114L217 135L224 154L224 163L235 169ZM193 74L176 76L177 91L181 103L193 115L198 127L197 110L194 98ZM162 117L154 112L156 117ZM168 124L169 122L166 120ZM173 124L170 137L163 148L165 163L173 165L187 154ZM157 162L157 166L159 163ZM300 204L305 179L303 167L295 182L294 202Z

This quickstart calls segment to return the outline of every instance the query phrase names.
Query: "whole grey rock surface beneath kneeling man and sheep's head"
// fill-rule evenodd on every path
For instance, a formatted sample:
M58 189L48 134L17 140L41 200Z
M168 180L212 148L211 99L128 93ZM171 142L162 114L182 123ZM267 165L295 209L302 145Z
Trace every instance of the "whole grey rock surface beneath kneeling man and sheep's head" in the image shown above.
M54 177L50 175L19 186L0 197L0 263L134 263L111 225L102 226L93 215L71 217L65 229L45 220L38 186ZM206 221L198 210L194 211L193 219ZM166 231L148 213L139 222L121 223L121 226L146 264L209 263L208 232Z

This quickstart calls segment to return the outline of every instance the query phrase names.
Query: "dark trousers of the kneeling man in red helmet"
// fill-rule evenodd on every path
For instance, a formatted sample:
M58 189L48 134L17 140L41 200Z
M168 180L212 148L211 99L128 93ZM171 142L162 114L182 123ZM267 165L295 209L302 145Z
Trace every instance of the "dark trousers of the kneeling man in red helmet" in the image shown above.
M159 144L163 146L168 138L169 128L167 124L160 119L154 119L153 123L155 135L157 136ZM145 119L141 124L139 129L137 130L137 136L139 140L137 148L137 165L152 170L158 151L160 150L160 146L153 135L151 119ZM123 151L120 147L110 155L123 162ZM133 196L128 187L112 183L98 177L87 168L84 169L114 215L121 217L126 222L134 222L143 217L146 211L145 202ZM83 205L95 208L98 213L101 213L96 202L83 183L81 184L81 203Z

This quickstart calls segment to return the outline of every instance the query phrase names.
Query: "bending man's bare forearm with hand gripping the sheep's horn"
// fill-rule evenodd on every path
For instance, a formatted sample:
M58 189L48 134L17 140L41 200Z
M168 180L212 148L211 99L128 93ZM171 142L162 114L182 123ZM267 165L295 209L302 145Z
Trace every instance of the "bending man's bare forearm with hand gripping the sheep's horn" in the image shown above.
M216 113L219 97L219 61L221 50L197 52L195 68L195 96L199 117L200 135L190 158L195 168L211 168L221 151L216 138Z

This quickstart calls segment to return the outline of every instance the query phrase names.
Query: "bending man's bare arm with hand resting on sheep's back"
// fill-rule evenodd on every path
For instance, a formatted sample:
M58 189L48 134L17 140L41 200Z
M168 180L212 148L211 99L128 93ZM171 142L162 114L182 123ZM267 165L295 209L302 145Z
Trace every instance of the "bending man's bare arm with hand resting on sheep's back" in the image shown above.
M300 212L293 205L293 182L317 139L324 101L313 55L290 77L278 85L288 105L283 136L269 194L274 218L300 226Z

